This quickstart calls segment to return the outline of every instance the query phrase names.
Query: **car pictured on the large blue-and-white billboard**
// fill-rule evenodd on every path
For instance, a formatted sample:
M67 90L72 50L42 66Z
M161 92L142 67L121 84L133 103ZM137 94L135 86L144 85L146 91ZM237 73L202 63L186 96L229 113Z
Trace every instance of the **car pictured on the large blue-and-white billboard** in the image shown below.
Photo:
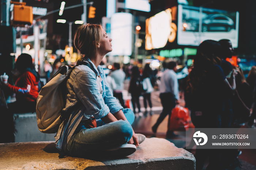
M199 31L199 19L184 20L185 31ZM202 19L202 32L226 31L229 32L234 27L234 21L222 14L210 14Z

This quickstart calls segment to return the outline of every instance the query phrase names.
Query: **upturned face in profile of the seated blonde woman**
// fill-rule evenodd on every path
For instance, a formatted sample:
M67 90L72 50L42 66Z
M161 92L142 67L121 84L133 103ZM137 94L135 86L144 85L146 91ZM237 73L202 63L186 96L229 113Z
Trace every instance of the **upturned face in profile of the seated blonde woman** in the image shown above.
M112 45L111 45L112 39L108 37L108 35L106 34L106 31L104 31L102 28L101 28L101 32L102 32L102 35L101 35L101 40L99 41L98 52L107 54L110 51L112 51Z

